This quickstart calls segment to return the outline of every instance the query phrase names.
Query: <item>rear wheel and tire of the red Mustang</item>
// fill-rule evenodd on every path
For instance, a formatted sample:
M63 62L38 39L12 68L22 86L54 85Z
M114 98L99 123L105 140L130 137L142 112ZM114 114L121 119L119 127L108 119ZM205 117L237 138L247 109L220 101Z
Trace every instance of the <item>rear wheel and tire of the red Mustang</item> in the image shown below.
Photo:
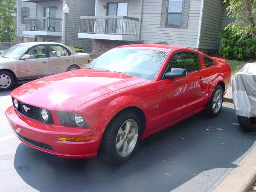
M212 96L206 105L206 109L204 110L204 115L207 117L218 116L218 113L221 111L222 102L223 102L223 89L221 85L217 85L215 89L212 91Z

